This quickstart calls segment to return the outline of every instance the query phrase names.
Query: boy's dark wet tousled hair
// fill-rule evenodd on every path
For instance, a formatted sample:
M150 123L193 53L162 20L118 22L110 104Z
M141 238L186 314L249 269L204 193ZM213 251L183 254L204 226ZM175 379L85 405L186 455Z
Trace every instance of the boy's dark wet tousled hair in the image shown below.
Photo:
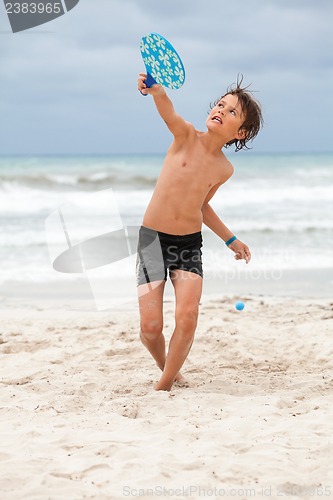
M245 130L246 135L244 139L233 139L232 141L227 142L224 146L225 148L228 148L232 144L235 144L235 151L240 151L241 149L251 149L248 147L247 143L249 141L253 141L264 123L260 103L253 97L252 92L248 90L249 85L247 87L242 87L242 83L243 75L238 75L237 83L230 85L227 88L226 93L210 105L212 109L226 95L231 94L237 96L238 102L242 108L242 113L245 116L245 120L239 130Z

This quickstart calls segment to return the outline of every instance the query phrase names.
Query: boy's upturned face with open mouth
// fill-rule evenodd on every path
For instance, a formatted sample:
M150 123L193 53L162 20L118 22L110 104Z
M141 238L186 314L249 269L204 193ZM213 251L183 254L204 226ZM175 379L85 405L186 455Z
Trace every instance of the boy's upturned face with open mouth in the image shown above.
M227 94L212 108L206 125L208 130L221 134L221 138L228 142L244 138L245 132L241 130L244 120L245 116L237 95Z

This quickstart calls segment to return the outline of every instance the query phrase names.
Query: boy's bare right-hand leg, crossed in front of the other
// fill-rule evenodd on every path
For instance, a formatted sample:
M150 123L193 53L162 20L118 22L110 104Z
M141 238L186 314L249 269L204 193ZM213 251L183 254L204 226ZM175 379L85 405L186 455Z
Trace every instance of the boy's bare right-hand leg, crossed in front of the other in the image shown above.
M198 274L177 269L172 273L176 297L176 326L170 339L161 379L156 390L169 391L190 352L197 326L202 278Z

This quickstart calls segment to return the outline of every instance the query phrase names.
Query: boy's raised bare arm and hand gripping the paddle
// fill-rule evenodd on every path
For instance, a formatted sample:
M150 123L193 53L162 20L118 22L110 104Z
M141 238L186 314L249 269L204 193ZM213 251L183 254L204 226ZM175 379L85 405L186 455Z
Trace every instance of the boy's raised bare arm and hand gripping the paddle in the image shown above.
M154 98L155 106L159 112L161 118L165 121L168 129L174 135L174 137L187 135L190 123L186 122L178 113L176 113L175 108L171 100L169 99L167 93L165 92L162 85L153 85L147 88L144 80L146 75L140 73L138 78L138 89L142 94L150 94Z

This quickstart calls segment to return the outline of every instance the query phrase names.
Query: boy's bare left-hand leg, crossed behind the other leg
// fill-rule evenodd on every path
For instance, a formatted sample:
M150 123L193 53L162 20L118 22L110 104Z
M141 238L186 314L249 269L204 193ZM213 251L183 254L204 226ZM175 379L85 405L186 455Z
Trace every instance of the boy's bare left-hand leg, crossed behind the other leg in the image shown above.
M165 281L158 285L154 282L139 285L139 311L140 311L140 338L156 361L157 366L163 370L165 364L165 339L163 335L163 293Z

